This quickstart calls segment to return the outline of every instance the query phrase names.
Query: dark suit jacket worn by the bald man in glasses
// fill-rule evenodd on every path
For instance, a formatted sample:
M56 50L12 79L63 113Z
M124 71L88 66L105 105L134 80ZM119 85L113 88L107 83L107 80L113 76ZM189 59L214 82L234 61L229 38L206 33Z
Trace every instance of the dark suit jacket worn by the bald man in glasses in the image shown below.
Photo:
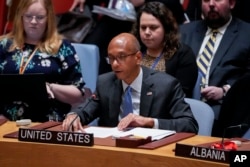
M179 82L170 75L143 69L140 115L157 118L160 129L177 132L198 132L198 124L187 103ZM118 125L122 101L122 82L113 72L100 75L95 99L90 99L77 112L82 124L88 124L99 117L99 125L115 127Z

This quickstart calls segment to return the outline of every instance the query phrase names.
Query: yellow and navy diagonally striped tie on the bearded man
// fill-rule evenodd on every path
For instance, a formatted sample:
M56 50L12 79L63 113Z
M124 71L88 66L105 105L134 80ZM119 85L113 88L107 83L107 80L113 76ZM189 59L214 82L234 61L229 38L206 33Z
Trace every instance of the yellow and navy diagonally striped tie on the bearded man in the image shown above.
M207 44L203 50L203 52L200 55L200 58L197 60L197 65L199 67L199 72L202 75L202 83L201 84L206 84L206 75L207 75L207 70L208 70L208 66L210 64L211 58L213 56L214 53L214 44L215 44L215 40L216 40L216 35L217 35L218 31L217 30L213 30L212 34L209 38L209 40L207 41Z

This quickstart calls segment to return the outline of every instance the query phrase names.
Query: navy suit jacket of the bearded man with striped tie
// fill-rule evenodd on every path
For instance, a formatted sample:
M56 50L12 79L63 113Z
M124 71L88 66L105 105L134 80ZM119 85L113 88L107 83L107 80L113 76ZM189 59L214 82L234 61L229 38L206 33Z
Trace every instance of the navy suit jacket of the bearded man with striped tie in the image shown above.
M198 56L207 31L205 21L194 21L180 27L182 42L189 45ZM233 18L214 55L210 68L209 86L232 85L250 69L250 24ZM208 102L218 118L220 103Z

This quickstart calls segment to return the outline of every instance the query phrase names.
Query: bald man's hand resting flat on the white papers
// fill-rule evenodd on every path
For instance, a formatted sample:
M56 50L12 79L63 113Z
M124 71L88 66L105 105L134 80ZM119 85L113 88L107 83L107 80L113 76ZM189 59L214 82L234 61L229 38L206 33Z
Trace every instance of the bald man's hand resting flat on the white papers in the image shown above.
M128 114L126 117L121 119L118 124L119 130L124 130L127 127L154 127L153 118L143 117L135 114Z

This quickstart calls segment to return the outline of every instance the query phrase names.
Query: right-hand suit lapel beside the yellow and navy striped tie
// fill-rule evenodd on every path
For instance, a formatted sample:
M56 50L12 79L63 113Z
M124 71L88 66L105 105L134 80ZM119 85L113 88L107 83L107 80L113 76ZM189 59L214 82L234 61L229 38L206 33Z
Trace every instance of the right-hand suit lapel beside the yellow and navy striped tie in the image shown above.
M218 63L221 61L221 59L224 57L224 55L227 53L227 50L231 47L236 35L237 35L237 23L235 20L232 20L232 22L227 27L227 30L225 31L225 34L223 35L220 45L214 55L213 62L211 64L210 68L210 76L212 75L213 71L215 70L215 67L218 65ZM230 54L230 53L228 53Z

